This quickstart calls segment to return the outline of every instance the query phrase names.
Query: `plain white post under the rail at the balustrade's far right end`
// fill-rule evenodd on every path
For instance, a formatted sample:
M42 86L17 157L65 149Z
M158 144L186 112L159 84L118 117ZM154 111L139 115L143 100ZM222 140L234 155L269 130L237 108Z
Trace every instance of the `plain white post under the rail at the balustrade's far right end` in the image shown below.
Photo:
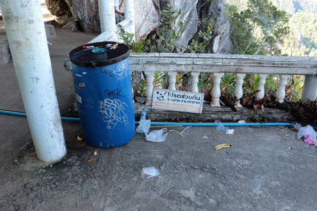
M315 101L317 95L317 75L305 76L303 86L303 93L301 101L307 103L308 101Z

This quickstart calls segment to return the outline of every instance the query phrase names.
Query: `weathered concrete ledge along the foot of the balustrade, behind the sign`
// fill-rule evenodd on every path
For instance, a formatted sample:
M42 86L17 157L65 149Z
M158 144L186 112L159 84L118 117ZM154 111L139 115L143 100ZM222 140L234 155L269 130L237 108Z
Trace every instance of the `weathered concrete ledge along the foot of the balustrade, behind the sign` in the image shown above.
M264 110L251 110L248 108L237 108L237 112L232 111L231 108L221 106L220 108L211 107L210 104L205 103L202 114L193 114L176 111L165 111L152 109L145 106L145 104L134 103L134 111L136 121L140 120L140 114L144 107L148 108L148 118L152 121L197 121L197 122L213 122L214 120L221 121L239 121L247 120L251 117L258 117L259 115L265 116L267 120L278 121L294 121L295 118L288 112L272 108L264 108Z

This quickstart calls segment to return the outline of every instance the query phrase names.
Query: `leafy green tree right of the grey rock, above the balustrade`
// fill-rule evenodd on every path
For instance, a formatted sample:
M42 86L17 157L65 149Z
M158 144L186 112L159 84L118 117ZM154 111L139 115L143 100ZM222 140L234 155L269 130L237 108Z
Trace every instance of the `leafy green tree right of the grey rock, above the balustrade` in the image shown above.
M239 11L235 5L226 6L231 24L230 37L234 53L279 55L279 44L288 33L289 16L269 0L248 0L247 8Z

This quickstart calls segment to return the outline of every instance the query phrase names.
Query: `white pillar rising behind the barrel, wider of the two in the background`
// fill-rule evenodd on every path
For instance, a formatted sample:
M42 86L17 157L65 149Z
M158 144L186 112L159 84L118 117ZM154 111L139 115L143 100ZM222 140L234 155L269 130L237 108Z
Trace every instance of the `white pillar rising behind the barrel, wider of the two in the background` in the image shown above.
M101 33L110 31L117 41L114 0L98 0Z

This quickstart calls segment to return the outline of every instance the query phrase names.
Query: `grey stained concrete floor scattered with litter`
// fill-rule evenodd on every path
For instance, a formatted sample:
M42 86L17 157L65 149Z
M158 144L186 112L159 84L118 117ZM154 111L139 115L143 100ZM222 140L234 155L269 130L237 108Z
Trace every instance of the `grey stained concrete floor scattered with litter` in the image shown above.
M74 96L63 59L94 35L60 29L56 34L49 49L61 114L67 114ZM0 74L0 109L23 111L13 65L0 67ZM289 128L261 127L227 135L214 127L192 127L185 137L169 132L163 143L146 142L144 135L136 134L122 147L101 150L76 139L82 135L78 122L63 122L67 156L46 167L37 160L32 144L19 150L32 141L25 118L0 115L0 126L0 210L312 211L317 207L317 149L298 140ZM219 143L232 147L214 150ZM143 179L141 169L150 166L160 175Z

